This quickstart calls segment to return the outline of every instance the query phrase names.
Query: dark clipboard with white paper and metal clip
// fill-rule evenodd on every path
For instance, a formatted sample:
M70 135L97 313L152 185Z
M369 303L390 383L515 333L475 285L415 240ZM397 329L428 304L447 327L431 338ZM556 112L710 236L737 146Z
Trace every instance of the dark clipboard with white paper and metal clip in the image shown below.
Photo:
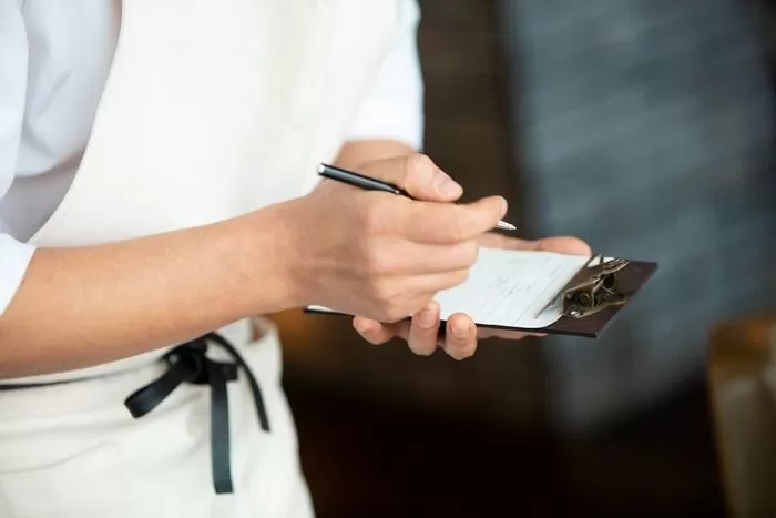
M598 336L656 266L602 254L481 248L467 281L435 299L442 321L466 313L482 327Z

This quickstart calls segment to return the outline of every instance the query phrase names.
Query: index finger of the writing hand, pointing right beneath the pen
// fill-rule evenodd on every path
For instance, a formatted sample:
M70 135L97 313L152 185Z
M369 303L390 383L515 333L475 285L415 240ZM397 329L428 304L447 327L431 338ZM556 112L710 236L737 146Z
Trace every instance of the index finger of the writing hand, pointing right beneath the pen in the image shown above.
M492 231L506 213L501 196L462 204L413 202L402 213L402 233L416 243L460 243Z

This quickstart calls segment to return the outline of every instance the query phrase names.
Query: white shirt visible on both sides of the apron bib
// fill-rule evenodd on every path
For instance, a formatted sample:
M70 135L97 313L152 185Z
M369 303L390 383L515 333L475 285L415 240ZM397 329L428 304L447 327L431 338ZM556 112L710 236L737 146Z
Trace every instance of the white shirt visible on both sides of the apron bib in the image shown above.
M402 0L401 7L401 33L347 138L391 139L420 149L420 13L416 0ZM34 253L27 240L74 177L120 17L119 0L0 0L0 315Z

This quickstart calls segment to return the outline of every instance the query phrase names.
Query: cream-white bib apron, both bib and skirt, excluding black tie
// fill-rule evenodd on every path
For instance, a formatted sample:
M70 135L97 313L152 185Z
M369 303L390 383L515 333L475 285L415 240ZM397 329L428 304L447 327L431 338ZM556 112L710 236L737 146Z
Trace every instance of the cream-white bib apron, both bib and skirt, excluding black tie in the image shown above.
M71 246L233 217L303 194L330 161L398 27L397 0L124 0L93 131L62 204L31 240ZM276 331L219 333L244 372L227 384L231 483L216 495L208 385L182 384L133 418L124 399L165 349L0 383L2 518L296 518L313 515L280 387ZM217 347L208 355L229 358ZM223 475L223 474L222 474Z

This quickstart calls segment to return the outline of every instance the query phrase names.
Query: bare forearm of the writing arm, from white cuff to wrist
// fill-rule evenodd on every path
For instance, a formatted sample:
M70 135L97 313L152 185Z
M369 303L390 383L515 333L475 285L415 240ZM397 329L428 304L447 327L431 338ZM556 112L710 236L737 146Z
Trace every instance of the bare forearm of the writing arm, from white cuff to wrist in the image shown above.
M277 225L268 207L121 243L37 251L0 317L0 378L111 362L292 307Z

